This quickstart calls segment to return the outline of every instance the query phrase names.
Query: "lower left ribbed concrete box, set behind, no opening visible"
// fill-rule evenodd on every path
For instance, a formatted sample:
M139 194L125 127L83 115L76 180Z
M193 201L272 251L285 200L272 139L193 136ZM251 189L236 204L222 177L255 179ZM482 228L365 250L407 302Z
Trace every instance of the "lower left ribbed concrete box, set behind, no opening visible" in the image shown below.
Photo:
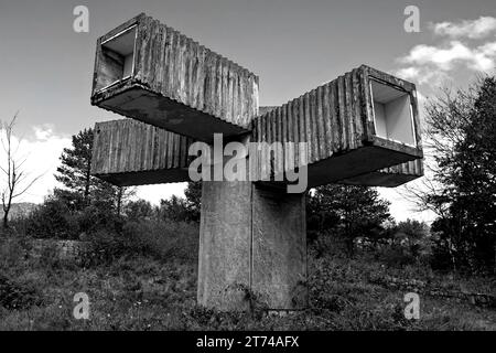
M91 173L119 186L188 181L192 142L132 119L98 122Z

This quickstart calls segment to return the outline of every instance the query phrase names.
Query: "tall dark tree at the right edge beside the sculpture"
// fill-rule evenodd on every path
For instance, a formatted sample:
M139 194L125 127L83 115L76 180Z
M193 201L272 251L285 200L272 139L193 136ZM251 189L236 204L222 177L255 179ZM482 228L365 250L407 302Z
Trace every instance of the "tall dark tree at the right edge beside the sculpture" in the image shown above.
M470 272L496 270L496 77L468 90L431 99L427 146L433 178L411 190L438 218L440 268Z

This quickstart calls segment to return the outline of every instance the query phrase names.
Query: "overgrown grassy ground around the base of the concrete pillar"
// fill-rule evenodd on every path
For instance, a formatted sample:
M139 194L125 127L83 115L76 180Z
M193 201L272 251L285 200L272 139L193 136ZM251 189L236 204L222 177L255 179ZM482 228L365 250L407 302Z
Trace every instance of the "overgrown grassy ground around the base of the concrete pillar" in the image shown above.
M0 330L496 330L494 309L429 296L421 296L420 320L406 320L405 291L377 280L414 277L431 286L495 290L494 279L393 268L367 255L311 256L310 308L272 315L197 307L196 261L184 253L125 254L82 268L30 258L26 244L0 240ZM195 250L194 242L187 244ZM77 292L89 296L89 320L73 317Z

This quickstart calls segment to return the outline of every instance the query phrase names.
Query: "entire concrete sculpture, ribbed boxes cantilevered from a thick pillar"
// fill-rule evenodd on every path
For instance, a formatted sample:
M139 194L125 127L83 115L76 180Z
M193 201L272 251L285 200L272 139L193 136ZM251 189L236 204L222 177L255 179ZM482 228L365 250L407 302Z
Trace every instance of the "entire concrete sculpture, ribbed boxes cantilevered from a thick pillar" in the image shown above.
M203 181L197 300L220 310L305 308L305 190L423 174L413 84L363 65L259 109L255 74L144 14L98 40L91 103L132 118L95 127L93 173L117 185L188 181L192 146L219 135L262 146L245 180Z

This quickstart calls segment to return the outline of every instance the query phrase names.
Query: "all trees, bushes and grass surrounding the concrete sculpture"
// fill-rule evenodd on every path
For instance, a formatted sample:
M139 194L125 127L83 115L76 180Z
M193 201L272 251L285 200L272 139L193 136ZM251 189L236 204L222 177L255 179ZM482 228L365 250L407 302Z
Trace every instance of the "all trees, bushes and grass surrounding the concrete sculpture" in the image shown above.
M310 306L288 315L197 307L201 183L158 206L131 200L90 175L93 131L80 131L61 158L64 188L0 234L0 330L496 330L495 107L494 78L428 106L434 180L412 192L439 215L432 227L396 223L373 188L308 195ZM36 238L85 253L40 252ZM89 320L72 314L82 291ZM412 291L420 320L403 315Z

